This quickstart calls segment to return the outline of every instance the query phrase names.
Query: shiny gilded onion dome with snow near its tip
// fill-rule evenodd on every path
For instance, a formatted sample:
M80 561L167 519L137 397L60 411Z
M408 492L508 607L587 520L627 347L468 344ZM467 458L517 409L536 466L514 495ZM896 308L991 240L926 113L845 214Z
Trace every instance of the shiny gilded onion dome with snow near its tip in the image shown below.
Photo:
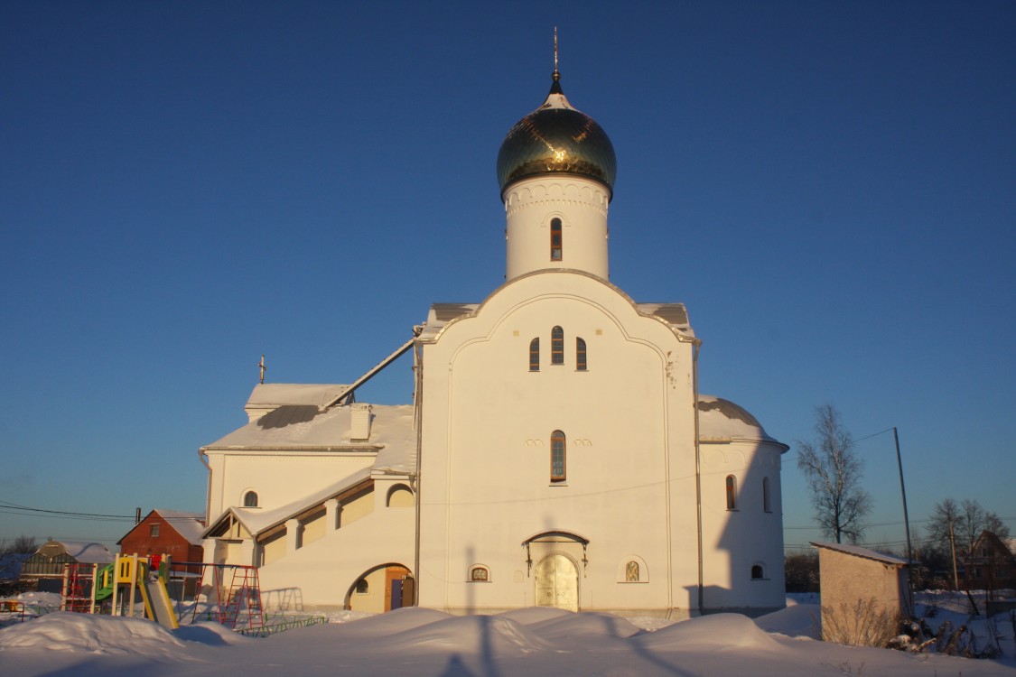
M561 90L560 75L547 100L519 120L498 152L501 193L521 179L547 174L571 174L598 181L614 191L618 161L604 128L575 110Z

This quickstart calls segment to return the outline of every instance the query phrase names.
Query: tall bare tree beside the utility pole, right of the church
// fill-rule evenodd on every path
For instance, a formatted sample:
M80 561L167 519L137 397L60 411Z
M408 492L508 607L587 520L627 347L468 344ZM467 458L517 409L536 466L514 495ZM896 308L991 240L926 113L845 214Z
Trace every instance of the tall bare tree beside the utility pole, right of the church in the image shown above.
M837 543L843 537L856 543L872 499L861 488L863 469L853 454L853 438L831 404L815 407L815 432L814 443L798 442L798 469L808 478L815 520Z

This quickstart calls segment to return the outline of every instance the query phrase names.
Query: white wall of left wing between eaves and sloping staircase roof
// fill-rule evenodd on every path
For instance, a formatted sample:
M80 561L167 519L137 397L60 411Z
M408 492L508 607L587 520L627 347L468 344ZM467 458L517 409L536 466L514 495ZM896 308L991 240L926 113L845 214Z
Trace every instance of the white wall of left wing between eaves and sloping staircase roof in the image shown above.
M358 470L369 468L376 454L363 452L219 452L207 451L211 466L208 519L231 505L244 504L253 490L258 506L279 507L323 489Z

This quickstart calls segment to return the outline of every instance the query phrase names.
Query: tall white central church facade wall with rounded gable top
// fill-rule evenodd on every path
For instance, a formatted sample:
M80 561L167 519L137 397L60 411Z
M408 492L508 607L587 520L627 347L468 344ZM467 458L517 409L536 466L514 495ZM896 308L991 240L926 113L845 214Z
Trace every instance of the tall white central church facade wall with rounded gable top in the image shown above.
M567 247L567 245L566 245ZM553 291L551 291L553 290ZM551 328L565 363L551 364ZM541 370L528 348L541 338ZM588 370L575 370L575 338ZM609 285L576 273L516 279L423 349L422 606L531 606L522 542L562 530L589 540L533 545L579 567L581 609L665 613L697 582L692 349ZM550 436L567 435L567 482L550 481ZM538 552L537 552L538 551ZM626 557L648 583L618 583ZM481 563L491 581L467 583ZM697 590L697 588L695 588Z

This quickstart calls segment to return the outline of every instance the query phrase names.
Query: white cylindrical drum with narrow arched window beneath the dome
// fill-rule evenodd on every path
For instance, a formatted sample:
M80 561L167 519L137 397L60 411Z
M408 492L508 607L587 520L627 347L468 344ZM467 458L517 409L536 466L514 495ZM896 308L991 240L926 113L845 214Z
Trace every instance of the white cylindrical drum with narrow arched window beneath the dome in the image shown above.
M607 189L588 179L553 175L505 192L507 279L569 268L608 278ZM551 261L551 219L562 221L562 259Z

